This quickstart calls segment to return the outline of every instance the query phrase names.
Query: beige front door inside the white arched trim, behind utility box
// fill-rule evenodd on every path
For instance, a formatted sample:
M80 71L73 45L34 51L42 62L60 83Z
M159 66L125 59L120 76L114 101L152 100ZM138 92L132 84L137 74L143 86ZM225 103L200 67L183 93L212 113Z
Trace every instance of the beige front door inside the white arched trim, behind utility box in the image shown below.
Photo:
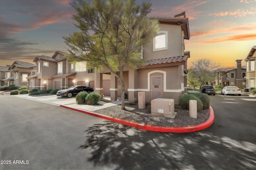
M164 75L150 75L150 99L164 98Z

